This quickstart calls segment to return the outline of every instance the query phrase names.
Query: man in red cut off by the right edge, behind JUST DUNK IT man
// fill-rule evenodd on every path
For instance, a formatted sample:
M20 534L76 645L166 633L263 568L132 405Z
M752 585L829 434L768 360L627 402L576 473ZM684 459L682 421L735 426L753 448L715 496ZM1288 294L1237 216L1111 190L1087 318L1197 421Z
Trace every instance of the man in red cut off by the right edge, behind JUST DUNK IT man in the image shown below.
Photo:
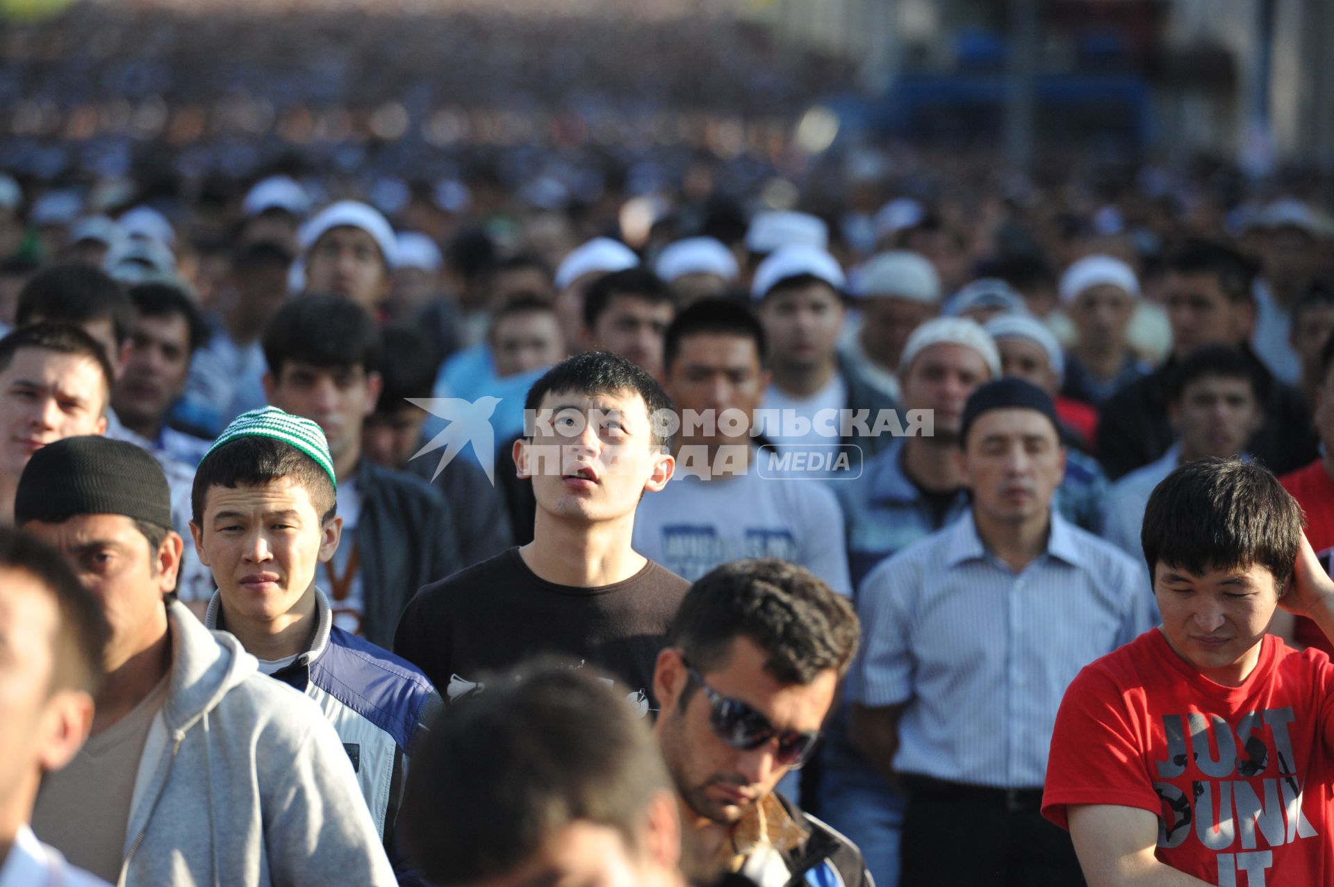
M1321 560L1329 563L1334 554L1334 336L1325 341L1319 356L1319 384L1315 388L1315 433L1321 436L1319 459L1283 475L1278 483L1293 494L1293 499L1306 512L1306 538ZM1293 627L1293 640L1315 647L1334 656L1334 644L1321 634L1310 619L1298 619Z

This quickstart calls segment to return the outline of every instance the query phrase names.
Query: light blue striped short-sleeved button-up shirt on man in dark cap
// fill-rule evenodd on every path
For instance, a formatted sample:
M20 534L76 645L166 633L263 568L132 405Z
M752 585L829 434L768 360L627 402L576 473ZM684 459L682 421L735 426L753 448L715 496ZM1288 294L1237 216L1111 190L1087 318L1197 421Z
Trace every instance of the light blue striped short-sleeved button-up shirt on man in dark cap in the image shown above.
M907 703L900 772L1037 788L1066 687L1149 628L1149 600L1143 570L1057 514L1047 551L1015 574L970 512L867 576L847 695Z

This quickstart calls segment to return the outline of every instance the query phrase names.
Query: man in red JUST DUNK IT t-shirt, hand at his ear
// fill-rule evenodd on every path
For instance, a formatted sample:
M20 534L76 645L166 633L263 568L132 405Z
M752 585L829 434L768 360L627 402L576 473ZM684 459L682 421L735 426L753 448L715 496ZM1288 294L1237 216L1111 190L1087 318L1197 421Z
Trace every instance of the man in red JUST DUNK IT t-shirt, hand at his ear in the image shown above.
M1334 636L1334 582L1254 464L1202 460L1145 510L1162 626L1083 668L1057 715L1042 812L1091 887L1334 883L1334 666L1266 634Z

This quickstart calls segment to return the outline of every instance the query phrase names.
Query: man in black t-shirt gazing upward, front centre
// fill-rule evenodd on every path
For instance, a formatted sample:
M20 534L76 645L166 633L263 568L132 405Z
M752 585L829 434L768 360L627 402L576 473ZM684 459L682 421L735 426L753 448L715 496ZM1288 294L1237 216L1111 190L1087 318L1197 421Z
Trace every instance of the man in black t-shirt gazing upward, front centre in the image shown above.
M610 353L556 364L524 403L515 441L538 500L534 540L422 588L399 620L394 651L451 702L484 691L535 654L598 666L642 712L654 663L688 583L630 547L643 494L675 467L671 401L652 376Z

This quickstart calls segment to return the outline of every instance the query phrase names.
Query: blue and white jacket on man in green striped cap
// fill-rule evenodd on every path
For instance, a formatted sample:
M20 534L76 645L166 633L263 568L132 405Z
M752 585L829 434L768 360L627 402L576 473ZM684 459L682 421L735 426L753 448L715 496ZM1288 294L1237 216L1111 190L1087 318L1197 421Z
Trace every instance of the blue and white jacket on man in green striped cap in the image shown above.
M403 799L408 748L443 708L440 695L408 660L334 626L334 611L319 588L315 618L309 647L272 676L313 699L334 724L399 883L416 884L398 852L394 822ZM215 592L204 624L225 631L221 622L221 600Z

